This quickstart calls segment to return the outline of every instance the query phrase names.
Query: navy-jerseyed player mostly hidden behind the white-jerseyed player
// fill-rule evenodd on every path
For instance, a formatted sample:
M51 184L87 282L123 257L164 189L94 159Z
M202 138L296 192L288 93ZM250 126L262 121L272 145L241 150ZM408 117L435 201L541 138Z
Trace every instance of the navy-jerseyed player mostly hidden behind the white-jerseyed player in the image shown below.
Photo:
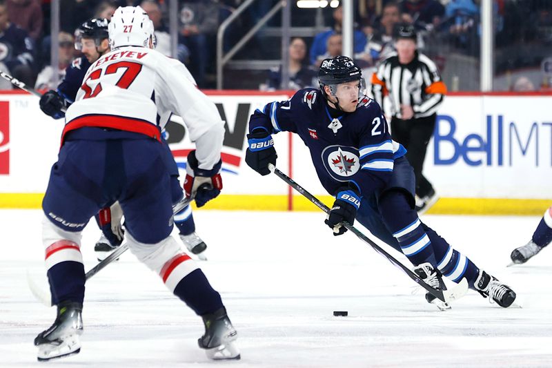
M57 87L57 90L49 90L40 99L40 108L46 115L54 119L60 119L65 116L63 110L68 108L75 101L77 91L81 88L84 75L90 65L97 61L101 56L110 51L108 42L108 20L101 18L92 18L84 22L76 32L75 48L83 53L83 56L75 59L66 69L66 75ZM178 167L175 163L168 144L166 146L166 159L171 169L172 186L174 193L174 203L179 202L183 196L178 177ZM98 260L103 260L117 246L121 245L123 233L121 231L120 217L116 213L119 211L118 204L115 204L113 215L109 208L102 209L95 216L96 222L102 231L100 239L96 242L94 249ZM197 233L195 233L195 222L192 215L192 208L186 206L175 215L175 224L179 229L179 236L186 245L188 251L196 254L199 259L206 260L204 251L207 245Z

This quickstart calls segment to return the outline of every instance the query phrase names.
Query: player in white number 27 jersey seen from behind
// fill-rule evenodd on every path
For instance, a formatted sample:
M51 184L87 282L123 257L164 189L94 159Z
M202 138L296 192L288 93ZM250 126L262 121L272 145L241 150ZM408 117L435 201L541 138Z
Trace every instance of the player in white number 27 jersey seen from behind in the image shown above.
M152 50L153 25L144 10L118 8L109 39L112 51L90 66L66 112L43 200L43 244L57 318L34 339L38 359L80 351L86 281L81 231L115 201L125 213L130 251L203 318L199 347L209 358L239 359L237 333L219 293L170 236L170 173L160 138L170 112L181 115L196 144L188 156L186 195L201 206L222 188L223 122L186 68Z

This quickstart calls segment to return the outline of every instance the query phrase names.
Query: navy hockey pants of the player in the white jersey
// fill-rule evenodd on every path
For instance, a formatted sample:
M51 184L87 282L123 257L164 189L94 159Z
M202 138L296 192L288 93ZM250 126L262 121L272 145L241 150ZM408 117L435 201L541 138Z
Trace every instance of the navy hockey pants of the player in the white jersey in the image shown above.
M166 148L148 137L66 141L52 166L43 211L66 231L81 231L119 201L126 230L138 242L157 243L172 231L172 195Z

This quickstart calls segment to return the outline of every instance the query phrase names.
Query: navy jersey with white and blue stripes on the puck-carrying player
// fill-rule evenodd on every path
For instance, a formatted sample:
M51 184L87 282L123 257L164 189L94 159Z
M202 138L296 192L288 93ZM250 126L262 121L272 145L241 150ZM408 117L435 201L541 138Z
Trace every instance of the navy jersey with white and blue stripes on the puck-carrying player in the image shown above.
M380 106L366 96L354 113L333 118L322 92L305 88L287 101L255 110L249 131L256 129L297 133L311 151L319 180L331 195L347 182L355 183L362 196L384 188L391 179L394 159L406 153L391 140Z

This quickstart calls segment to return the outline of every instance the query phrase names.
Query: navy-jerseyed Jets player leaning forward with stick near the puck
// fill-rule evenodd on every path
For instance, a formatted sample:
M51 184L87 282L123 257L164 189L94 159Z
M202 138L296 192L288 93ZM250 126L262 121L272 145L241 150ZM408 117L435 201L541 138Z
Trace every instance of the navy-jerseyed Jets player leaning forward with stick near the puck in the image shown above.
M290 131L301 137L322 186L335 196L326 224L334 235L355 219L377 238L393 246L415 265L415 273L431 287L442 288L442 275L509 307L515 293L453 249L415 211L413 168L406 150L389 135L380 106L363 94L361 70L348 57L325 59L319 69L320 89L297 91L287 101L272 102L250 117L246 162L261 175L275 164L271 135ZM428 302L441 308L427 294Z

